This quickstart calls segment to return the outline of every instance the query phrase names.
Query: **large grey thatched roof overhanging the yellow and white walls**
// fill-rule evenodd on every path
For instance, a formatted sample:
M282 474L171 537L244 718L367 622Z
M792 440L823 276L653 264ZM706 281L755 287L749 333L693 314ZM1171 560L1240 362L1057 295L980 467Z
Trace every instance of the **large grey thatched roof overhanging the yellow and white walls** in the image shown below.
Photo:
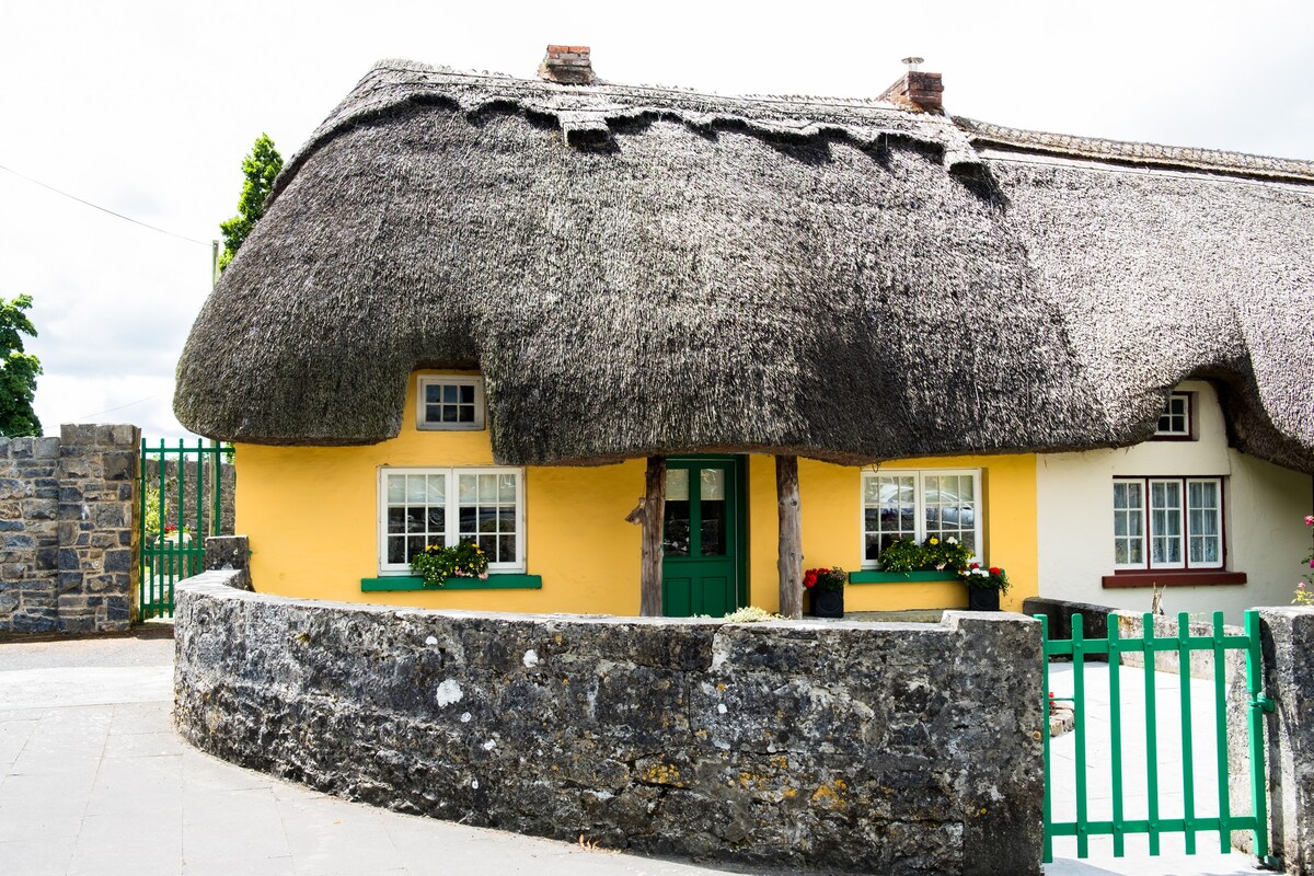
M979 130L382 62L280 176L175 410L367 444L413 415L413 369L480 368L506 462L858 462L1131 443L1200 373L1238 443L1314 468L1314 189L1018 162Z

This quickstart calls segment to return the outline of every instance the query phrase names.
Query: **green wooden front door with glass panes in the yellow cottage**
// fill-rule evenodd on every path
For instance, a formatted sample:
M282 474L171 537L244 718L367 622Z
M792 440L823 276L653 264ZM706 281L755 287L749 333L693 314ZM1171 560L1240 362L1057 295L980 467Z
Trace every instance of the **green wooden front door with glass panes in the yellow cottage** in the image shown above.
M745 604L744 468L741 457L666 462L666 617L720 617Z

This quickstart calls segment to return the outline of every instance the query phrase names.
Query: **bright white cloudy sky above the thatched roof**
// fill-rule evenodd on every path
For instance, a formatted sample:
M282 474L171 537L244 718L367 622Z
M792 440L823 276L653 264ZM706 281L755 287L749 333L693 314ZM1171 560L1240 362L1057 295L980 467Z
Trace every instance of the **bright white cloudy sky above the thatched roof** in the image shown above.
M79 3L0 0L0 165L208 242L267 131L290 158L380 58L532 76L876 96L922 55L951 114L1314 159L1314 3ZM451 4L457 5L457 4ZM208 244L0 171L0 296L34 297L37 414L184 435L173 368Z

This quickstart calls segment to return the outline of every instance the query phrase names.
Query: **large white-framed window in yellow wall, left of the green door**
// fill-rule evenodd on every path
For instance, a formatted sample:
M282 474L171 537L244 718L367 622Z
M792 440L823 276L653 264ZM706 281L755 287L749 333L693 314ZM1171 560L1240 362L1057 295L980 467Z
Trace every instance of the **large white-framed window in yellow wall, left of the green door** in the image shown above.
M524 470L378 470L378 571L410 574L427 545L473 541L489 571L524 571Z

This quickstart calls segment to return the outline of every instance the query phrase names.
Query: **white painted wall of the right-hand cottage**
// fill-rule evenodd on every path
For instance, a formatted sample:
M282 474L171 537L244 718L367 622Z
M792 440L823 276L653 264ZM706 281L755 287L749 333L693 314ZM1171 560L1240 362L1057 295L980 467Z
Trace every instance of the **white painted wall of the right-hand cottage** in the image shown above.
M1113 478L1196 475L1225 478L1226 570L1246 573L1247 583L1168 586L1163 609L1222 609L1229 623L1239 623L1246 608L1292 602L1310 545L1303 517L1311 512L1314 483L1307 474L1229 448L1210 383L1185 381L1177 389L1194 393L1194 440L1037 457L1041 596L1148 611L1150 587L1102 584L1113 574Z

